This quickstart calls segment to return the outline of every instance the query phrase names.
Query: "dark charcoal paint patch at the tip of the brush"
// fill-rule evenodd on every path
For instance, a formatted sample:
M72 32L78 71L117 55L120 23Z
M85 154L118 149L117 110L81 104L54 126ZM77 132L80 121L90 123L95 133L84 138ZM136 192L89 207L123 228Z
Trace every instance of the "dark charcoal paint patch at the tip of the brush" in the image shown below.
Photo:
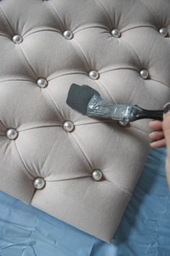
M97 90L94 90L88 85L80 86L73 83L68 91L66 103L71 108L79 111L81 114L86 115L87 106L94 94L99 95Z

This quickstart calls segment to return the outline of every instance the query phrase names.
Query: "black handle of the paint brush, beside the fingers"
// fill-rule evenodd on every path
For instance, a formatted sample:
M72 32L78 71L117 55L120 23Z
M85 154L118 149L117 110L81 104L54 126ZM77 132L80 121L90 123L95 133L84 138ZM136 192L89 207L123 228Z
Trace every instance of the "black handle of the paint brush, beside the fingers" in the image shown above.
M154 119L154 120L163 120L163 110L147 110L140 108L135 113L136 120L138 119Z

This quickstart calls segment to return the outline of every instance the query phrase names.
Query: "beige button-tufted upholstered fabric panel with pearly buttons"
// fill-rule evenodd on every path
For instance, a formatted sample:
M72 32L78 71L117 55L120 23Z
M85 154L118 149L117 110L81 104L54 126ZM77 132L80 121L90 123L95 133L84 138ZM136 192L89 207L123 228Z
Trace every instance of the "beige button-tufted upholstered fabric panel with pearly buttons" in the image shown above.
M169 0L1 0L0 189L110 242L149 152L149 120L83 116L68 90L163 108L169 36Z

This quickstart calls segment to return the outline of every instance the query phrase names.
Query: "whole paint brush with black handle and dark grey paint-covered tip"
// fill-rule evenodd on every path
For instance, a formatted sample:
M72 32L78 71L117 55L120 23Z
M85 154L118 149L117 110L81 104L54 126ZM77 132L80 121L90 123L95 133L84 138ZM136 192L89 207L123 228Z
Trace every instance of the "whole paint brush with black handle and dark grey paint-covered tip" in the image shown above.
M73 83L66 100L68 106L81 114L96 118L113 119L122 122L138 119L163 120L163 110L147 110L133 104L113 104L101 98L97 90L88 85Z

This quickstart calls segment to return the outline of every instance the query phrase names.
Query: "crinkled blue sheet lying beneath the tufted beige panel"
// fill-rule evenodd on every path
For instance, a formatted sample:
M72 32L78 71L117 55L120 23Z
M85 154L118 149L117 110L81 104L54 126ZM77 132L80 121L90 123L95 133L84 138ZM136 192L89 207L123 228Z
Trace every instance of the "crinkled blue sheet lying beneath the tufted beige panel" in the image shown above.
M0 192L0 256L169 256L166 149L151 149L111 244Z

